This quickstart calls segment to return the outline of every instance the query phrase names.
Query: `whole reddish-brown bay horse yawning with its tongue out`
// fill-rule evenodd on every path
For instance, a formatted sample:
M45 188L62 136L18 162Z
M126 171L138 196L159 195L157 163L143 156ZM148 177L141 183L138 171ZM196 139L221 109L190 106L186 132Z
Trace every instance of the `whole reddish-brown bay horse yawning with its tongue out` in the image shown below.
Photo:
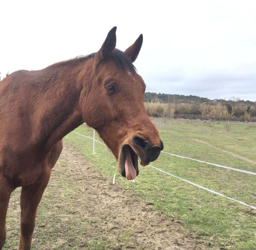
M31 246L36 210L62 138L84 121L97 130L128 180L163 149L143 103L145 83L132 62L142 35L125 52L116 47L116 27L101 49L38 71L16 71L0 84L0 249L6 238L11 192L21 189L20 250Z

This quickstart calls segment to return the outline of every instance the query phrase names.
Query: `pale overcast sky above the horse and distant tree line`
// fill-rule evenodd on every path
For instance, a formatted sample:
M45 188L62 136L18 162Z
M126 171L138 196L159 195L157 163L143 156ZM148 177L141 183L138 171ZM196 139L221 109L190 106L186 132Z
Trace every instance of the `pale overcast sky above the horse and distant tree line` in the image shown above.
M256 101L256 1L11 1L0 5L0 72L37 70L142 33L146 91Z

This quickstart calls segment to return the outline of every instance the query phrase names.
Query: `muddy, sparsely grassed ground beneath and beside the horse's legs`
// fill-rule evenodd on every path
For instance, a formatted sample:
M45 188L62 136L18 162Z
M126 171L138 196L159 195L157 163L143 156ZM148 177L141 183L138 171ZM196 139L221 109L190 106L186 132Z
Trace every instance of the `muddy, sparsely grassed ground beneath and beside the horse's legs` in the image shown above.
M17 249L19 192L10 200L4 249ZM113 185L64 145L38 207L32 249L210 249L184 225Z

